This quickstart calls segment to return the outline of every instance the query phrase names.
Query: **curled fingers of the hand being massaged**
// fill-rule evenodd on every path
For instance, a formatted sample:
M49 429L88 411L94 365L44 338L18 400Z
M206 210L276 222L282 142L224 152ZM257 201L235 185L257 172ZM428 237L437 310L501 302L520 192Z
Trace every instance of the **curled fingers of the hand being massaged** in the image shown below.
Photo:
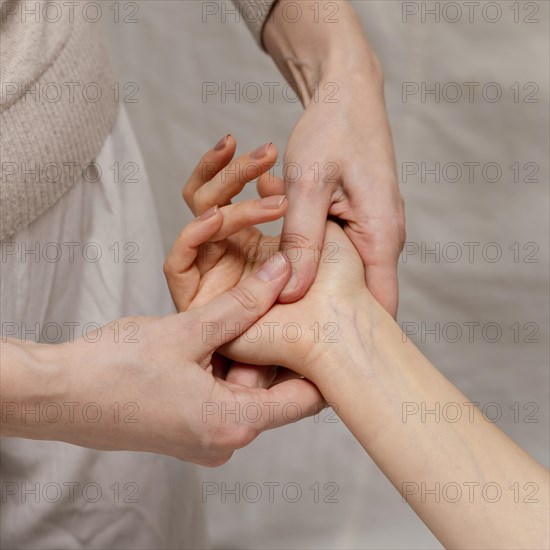
M260 182L272 180L267 171L277 160L277 150L266 144L231 162L236 146L231 135L220 140L202 157L183 188L185 202L200 218L182 231L164 264L168 287L180 312L232 288L279 247L278 238L263 235L254 224L282 217L287 208L284 195L231 205L249 181L256 177ZM280 180L276 183L281 184ZM215 209L217 205L222 206L221 212ZM212 219L200 223L204 216ZM232 364L226 371L225 380L250 387L268 388L274 381L292 377L278 373L272 365Z

